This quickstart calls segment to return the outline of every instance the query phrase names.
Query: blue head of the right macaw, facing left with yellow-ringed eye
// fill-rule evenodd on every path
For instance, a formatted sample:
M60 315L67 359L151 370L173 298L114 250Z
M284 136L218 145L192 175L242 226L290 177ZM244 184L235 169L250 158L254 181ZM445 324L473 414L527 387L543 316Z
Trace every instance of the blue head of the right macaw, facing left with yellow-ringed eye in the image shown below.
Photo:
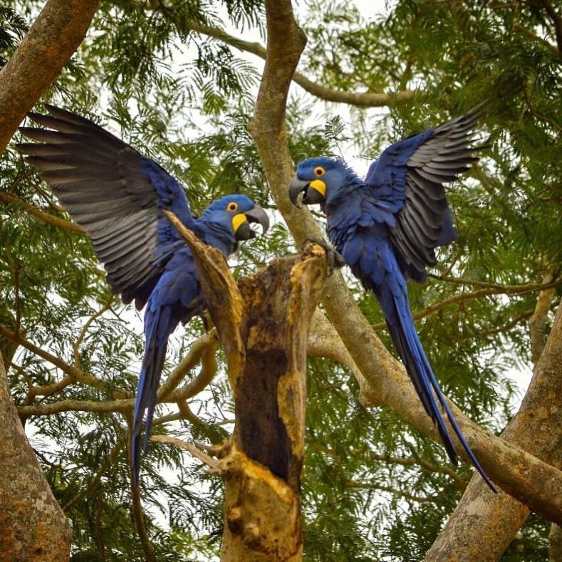
M324 207L345 195L356 179L353 170L339 158L309 158L298 163L288 196L296 205L298 194L303 192L304 204Z

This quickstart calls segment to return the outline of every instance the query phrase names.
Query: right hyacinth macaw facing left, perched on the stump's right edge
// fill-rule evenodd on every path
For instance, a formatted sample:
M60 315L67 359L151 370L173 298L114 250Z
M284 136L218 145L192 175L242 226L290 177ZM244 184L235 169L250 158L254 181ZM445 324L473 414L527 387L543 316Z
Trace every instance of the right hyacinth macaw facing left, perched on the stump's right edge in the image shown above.
M472 138L480 113L476 108L396 142L370 165L365 179L343 160L304 160L297 166L289 197L296 204L303 192L304 204L320 204L335 249L377 298L392 341L449 458L457 463L439 404L472 464L495 491L439 388L415 331L406 285L407 279L423 283L425 268L437 263L434 249L457 237L443 183L453 182L478 160Z

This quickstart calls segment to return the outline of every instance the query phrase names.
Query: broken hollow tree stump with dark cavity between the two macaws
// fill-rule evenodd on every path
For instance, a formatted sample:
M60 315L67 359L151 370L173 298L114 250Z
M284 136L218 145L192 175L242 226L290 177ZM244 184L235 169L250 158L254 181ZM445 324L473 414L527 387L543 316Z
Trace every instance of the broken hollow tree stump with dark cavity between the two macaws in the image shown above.
M308 244L236 286L222 254L167 215L194 254L234 392L234 436L217 450L226 483L222 560L299 561L306 347L324 250Z

